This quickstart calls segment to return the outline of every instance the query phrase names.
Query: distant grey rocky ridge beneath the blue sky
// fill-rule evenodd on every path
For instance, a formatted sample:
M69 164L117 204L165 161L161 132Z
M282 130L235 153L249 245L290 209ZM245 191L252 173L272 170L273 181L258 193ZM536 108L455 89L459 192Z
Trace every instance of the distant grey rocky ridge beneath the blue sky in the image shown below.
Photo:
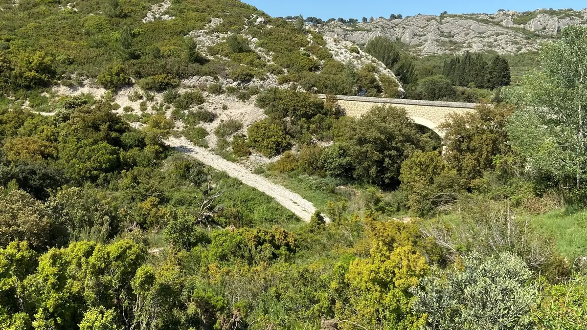
M364 44L376 36L409 45L419 55L483 52L517 54L536 50L539 42L556 36L568 25L587 23L587 9L538 9L533 12L498 11L495 14L417 15L404 19L375 19L345 25L330 22L321 31L331 38Z

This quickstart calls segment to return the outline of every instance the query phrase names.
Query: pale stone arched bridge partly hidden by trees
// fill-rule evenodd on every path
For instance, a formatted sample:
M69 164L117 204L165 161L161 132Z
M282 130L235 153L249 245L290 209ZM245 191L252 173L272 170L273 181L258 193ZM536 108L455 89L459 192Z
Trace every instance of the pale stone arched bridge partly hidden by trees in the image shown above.
M318 97L326 99L326 95L318 95ZM337 95L336 99L339 105L345 109L346 115L352 117L360 117L377 105L403 107L416 124L428 127L440 137L444 137L444 133L438 130L437 126L446 120L448 114L470 112L477 106L475 103L383 99L363 96Z

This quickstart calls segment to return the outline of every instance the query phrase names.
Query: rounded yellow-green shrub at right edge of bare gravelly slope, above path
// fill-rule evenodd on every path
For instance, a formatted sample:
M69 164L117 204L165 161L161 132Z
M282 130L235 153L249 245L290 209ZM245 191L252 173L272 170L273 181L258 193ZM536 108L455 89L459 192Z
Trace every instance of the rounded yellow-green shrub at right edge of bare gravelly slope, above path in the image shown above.
M284 128L269 119L252 124L248 129L248 137L249 144L266 157L281 154L289 147L290 138Z

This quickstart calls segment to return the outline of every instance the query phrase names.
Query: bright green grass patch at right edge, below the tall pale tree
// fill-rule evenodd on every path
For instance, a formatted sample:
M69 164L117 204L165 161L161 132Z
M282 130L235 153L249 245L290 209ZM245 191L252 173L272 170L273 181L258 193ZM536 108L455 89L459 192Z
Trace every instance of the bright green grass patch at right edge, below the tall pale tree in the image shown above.
M587 255L587 210L574 214L556 210L533 217L532 223L556 237L556 247L569 262Z

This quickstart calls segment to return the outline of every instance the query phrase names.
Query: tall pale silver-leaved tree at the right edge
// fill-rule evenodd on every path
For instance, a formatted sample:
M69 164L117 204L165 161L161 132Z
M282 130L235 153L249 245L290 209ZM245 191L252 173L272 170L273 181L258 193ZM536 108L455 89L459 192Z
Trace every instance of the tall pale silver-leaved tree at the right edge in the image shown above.
M541 72L505 90L517 105L507 132L527 168L561 187L587 184L587 26L569 26L541 49Z

